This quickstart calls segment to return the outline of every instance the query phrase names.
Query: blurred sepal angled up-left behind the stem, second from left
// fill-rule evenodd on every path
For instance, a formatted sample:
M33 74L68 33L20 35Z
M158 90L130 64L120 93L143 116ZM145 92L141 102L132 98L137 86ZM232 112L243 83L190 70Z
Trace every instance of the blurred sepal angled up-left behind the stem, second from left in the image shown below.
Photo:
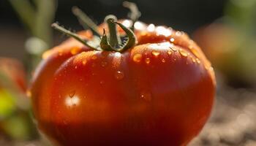
M80 24L83 26L84 29L89 28L94 35L100 37L97 25L94 23L93 20L91 20L91 18L89 18L88 15L86 15L86 13L84 13L78 7L72 7L72 12L78 18Z

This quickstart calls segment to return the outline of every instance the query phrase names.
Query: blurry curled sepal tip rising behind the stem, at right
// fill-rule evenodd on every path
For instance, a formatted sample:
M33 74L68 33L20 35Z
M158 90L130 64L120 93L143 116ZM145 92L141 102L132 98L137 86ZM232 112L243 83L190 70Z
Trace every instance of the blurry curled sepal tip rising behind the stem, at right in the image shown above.
M140 18L141 13L140 13L137 5L133 2L124 1L123 6L127 7L130 10L128 17L132 20L132 31L133 31L134 24Z

